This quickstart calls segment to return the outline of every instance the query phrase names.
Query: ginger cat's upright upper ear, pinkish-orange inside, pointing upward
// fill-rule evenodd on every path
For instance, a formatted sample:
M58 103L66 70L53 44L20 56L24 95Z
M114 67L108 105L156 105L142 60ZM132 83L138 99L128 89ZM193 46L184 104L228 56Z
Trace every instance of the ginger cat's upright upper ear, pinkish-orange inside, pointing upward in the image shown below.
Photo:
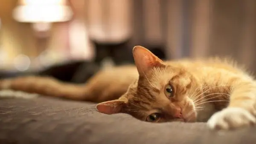
M133 57L139 75L144 75L154 66L163 66L163 61L143 46L134 46Z

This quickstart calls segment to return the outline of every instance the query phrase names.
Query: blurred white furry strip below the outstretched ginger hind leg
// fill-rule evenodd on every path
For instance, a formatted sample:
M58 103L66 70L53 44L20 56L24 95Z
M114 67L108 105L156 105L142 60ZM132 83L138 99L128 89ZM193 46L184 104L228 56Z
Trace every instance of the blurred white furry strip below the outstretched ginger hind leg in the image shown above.
M0 90L0 99L1 98L37 98L38 94L32 94L21 91L14 91L9 89Z

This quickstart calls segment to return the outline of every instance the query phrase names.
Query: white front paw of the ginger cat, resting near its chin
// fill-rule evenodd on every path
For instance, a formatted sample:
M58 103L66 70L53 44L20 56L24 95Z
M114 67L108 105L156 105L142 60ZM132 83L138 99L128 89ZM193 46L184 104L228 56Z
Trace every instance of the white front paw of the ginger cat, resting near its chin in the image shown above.
M208 120L207 125L210 129L229 130L246 127L256 123L256 118L246 109L226 108L216 112Z

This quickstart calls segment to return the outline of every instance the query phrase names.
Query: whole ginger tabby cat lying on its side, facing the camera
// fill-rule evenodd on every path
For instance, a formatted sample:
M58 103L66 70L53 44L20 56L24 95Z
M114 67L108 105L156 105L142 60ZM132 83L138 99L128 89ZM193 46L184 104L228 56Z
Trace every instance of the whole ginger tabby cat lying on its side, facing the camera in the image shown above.
M85 85L24 77L0 81L0 88L101 102L96 106L101 113L148 122L207 121L209 128L223 130L256 123L256 81L234 63L163 62L142 46L135 46L133 55L136 67L101 71Z

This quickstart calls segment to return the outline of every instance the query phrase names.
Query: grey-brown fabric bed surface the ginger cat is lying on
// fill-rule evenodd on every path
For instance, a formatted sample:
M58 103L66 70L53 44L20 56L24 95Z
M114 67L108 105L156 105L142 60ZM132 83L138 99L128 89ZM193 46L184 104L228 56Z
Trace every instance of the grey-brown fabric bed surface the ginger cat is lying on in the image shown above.
M101 114L87 102L0 99L0 144L255 144L255 133L256 127L217 132L204 123L152 124Z

